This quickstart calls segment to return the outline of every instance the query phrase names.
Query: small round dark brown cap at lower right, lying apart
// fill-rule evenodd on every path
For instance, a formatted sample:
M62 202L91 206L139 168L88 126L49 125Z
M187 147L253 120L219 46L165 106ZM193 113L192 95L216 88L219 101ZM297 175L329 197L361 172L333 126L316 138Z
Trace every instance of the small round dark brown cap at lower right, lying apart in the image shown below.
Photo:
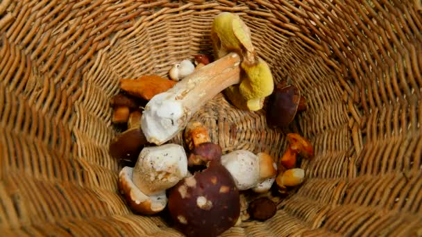
M277 206L269 198L262 197L253 200L248 207L248 213L252 219L255 220L268 220L276 215Z

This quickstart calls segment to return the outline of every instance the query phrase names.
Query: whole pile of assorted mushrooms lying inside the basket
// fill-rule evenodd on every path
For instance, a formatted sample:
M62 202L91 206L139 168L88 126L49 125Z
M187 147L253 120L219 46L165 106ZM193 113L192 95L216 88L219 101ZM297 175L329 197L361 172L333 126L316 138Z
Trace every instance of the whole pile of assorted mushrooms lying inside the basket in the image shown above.
M173 64L169 79L156 75L122 79L124 93L111 103L112 122L126 124L127 129L110 143L110 155L133 164L119 173L121 195L130 209L142 215L168 207L175 227L186 236L218 236L239 225L242 192L264 195L274 183L280 188L301 184L304 172L296 167L296 157L313 156L310 143L297 134L288 135L289 149L279 164L265 152L223 154L219 144L212 143L208 128L191 121L220 92L237 109L248 111L262 109L268 96L271 103L280 100L280 88L274 91L269 66L258 57L251 32L239 16L217 15L211 39L213 56L198 54L194 60ZM284 90L282 100L304 101L300 94L297 98L297 88ZM296 111L301 110L298 107ZM285 107L275 106L268 114L278 113L277 109ZM269 124L285 126L292 120ZM186 148L169 143L180 132ZM276 213L276 204L269 199L252 203L249 211L255 220L267 220Z

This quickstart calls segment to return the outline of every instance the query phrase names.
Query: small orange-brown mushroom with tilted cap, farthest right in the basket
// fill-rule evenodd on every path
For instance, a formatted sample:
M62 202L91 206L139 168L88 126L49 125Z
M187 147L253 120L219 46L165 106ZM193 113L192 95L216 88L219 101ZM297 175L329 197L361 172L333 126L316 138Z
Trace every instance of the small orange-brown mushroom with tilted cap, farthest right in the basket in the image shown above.
M287 141L289 147L280 159L280 164L285 168L294 168L296 166L297 155L301 155L305 159L312 159L314 157L314 149L309 140L301 137L296 133L287 134Z

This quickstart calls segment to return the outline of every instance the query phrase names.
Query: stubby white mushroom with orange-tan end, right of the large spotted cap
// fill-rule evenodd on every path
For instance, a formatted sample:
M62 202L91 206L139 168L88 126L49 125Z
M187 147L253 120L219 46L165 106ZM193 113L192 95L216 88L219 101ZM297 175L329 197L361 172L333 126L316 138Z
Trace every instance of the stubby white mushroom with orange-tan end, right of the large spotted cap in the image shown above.
M228 169L240 191L258 188L269 177L276 177L277 166L264 152L253 154L248 150L235 150L221 157L221 164Z

